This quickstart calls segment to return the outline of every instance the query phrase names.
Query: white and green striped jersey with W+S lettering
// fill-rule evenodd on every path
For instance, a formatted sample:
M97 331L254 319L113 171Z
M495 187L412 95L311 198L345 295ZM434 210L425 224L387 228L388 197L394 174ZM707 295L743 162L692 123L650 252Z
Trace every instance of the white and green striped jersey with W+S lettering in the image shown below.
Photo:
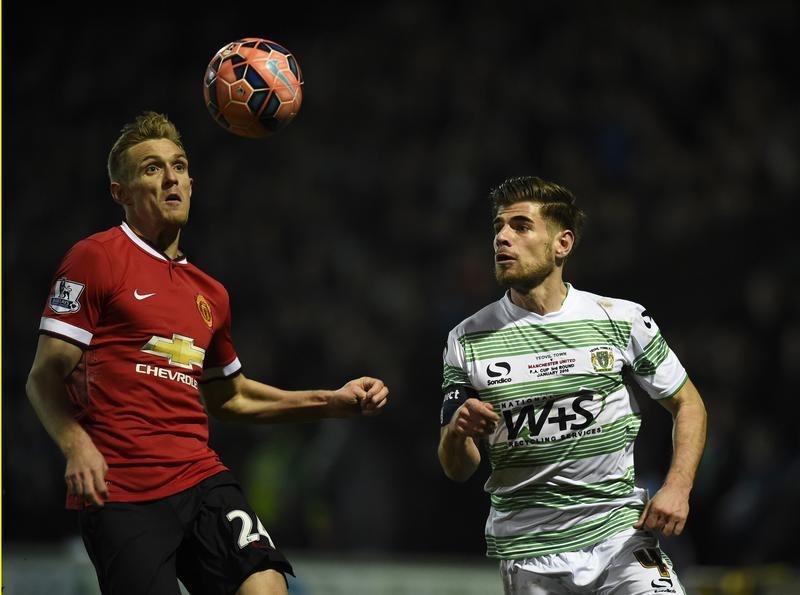
M568 285L561 309L540 316L506 293L450 331L445 394L472 387L502 418L484 445L489 557L572 551L638 520L646 493L635 485L640 416L628 378L662 399L687 376L627 300Z

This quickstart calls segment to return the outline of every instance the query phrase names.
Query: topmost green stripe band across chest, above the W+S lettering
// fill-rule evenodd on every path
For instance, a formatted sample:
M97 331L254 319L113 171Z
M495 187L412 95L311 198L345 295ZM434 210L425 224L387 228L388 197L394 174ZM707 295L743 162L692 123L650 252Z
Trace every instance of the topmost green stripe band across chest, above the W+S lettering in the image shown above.
M631 328L627 321L594 319L528 326L518 324L505 329L467 333L459 341L467 362L608 344L624 351Z

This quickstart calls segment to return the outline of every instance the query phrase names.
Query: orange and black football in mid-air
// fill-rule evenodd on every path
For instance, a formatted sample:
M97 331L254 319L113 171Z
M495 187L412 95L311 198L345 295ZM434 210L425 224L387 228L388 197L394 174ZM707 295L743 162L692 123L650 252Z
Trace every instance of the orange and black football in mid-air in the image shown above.
M291 122L303 102L292 53L260 37L222 47L206 68L203 97L214 121L233 134L264 138Z

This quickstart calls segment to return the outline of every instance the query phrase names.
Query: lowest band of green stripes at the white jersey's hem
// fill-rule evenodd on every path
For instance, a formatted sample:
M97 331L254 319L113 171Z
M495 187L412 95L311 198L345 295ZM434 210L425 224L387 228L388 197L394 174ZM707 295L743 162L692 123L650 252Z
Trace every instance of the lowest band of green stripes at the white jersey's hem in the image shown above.
M510 537L486 536L486 554L514 560L577 550L628 529L639 520L640 509L627 506L559 531L533 531Z

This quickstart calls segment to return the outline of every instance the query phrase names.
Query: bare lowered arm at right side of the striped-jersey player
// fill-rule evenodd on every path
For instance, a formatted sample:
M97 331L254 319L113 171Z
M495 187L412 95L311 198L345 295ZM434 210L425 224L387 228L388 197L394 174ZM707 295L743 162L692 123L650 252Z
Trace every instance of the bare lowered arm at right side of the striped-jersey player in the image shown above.
M680 535L689 516L689 494L706 443L706 408L691 380L659 401L672 414L672 462L664 485L642 512L637 529Z

